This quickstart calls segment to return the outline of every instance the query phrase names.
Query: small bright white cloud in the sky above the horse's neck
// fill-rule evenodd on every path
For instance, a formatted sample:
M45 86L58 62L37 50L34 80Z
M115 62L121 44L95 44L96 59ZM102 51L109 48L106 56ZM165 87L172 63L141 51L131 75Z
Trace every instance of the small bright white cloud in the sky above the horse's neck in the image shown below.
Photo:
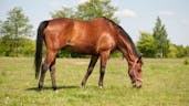
M133 10L122 10L122 11L116 11L115 15L123 15L123 17L136 17L136 12Z

